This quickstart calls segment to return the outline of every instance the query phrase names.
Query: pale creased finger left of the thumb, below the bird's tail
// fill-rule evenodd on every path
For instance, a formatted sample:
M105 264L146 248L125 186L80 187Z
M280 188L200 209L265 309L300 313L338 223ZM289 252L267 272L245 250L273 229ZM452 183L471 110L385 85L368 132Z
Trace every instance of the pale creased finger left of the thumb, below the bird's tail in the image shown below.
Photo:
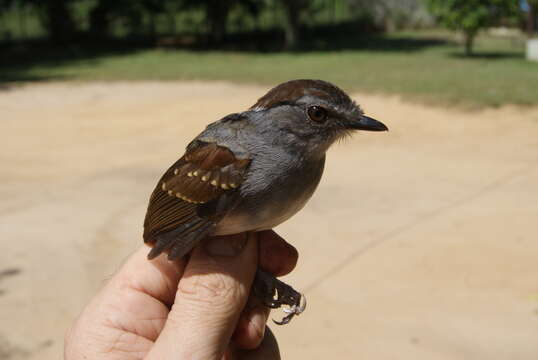
M85 307L67 333L66 358L98 358L111 346L119 346L109 339L128 338L139 348L149 348L157 339L184 263L169 262L164 256L148 261L147 253L142 246L131 255Z

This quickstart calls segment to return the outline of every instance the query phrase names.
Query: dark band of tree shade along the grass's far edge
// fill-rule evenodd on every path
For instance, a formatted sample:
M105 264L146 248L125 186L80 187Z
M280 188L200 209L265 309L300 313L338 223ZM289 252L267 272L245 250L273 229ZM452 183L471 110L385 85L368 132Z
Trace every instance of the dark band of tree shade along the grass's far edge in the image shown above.
M324 25L303 29L300 47L294 53L324 51L413 52L445 45L440 38L394 37L377 33L357 23ZM224 42L211 44L200 35L183 34L156 38L91 39L81 36L68 45L45 40L0 44L0 90L14 83L68 80L57 75L36 75L34 68L55 69L66 65L92 64L109 56L128 56L148 49L169 51L233 51L247 53L284 52L284 34L274 29L230 34ZM47 72L39 72L43 74Z

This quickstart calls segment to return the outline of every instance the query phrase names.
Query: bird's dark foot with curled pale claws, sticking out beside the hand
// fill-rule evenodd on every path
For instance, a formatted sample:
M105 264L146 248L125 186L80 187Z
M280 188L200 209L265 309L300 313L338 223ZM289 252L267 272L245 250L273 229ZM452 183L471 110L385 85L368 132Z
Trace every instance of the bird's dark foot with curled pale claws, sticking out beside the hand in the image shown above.
M287 315L281 321L273 320L275 324L284 325L289 323L295 315L301 314L306 308L304 295L261 269L256 271L252 288L254 294L265 306L271 309L276 309L283 305L288 306L283 310Z

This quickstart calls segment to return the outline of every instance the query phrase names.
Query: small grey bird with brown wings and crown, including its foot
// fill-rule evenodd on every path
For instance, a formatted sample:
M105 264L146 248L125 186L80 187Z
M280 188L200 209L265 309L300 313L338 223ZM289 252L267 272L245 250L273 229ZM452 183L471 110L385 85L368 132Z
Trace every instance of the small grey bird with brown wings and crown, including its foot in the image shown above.
M325 152L353 130L386 131L338 87L292 80L244 112L209 124L162 176L144 221L148 258L182 257L210 235L268 230L301 210L323 173ZM306 305L289 285L258 270L253 291L288 323Z

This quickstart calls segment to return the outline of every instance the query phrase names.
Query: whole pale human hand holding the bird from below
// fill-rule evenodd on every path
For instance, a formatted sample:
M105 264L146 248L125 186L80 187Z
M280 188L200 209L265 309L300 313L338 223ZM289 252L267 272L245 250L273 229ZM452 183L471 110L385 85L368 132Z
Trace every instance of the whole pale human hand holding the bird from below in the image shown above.
M249 296L260 266L281 276L297 251L273 231L215 237L187 260L136 251L67 332L65 359L280 359L267 308Z

